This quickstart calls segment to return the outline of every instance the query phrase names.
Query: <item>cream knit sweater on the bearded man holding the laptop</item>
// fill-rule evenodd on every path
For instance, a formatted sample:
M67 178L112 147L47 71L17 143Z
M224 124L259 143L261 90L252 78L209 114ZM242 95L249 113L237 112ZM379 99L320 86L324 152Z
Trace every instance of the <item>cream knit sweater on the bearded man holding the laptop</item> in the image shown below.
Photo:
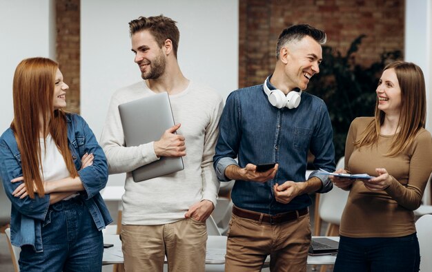
M167 224L183 219L195 202L206 199L216 205L219 181L213 169L213 155L223 101L213 90L192 81L186 90L170 96L175 123L181 123L177 134L186 138L184 170L142 182L132 180L132 170L152 163L157 156L153 142L125 146L118 106L152 94L155 93L145 81L117 90L101 136L110 174L126 172L121 224Z

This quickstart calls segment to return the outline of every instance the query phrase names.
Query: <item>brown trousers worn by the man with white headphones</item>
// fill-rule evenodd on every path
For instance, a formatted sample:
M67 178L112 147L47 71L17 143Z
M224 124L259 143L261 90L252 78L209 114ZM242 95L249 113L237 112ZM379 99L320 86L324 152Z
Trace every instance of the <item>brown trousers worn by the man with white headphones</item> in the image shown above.
M309 213L281 224L233 214L226 244L225 271L261 271L264 260L270 255L271 271L306 272L310 244Z

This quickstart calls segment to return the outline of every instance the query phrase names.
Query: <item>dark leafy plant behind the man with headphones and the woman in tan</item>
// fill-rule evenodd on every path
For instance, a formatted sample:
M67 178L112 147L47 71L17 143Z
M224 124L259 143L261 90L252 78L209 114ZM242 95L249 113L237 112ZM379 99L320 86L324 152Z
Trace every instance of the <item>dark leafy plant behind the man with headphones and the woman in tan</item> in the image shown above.
M307 92L322 98L328 107L333 125L335 161L344 156L346 134L355 117L373 116L376 100L376 86L384 66L400 59L402 52L383 52L380 61L369 67L355 63L364 34L358 36L345 56L330 46L322 48L323 61L320 74L313 77Z

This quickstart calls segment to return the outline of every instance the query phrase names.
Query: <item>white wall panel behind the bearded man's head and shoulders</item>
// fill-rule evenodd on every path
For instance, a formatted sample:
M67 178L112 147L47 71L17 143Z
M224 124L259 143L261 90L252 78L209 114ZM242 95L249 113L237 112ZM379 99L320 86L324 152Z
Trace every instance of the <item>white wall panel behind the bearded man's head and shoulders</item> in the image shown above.
M180 30L184 75L224 98L238 87L238 1L81 1L81 115L97 138L111 94L141 80L130 51L129 21L164 14ZM124 182L110 176L110 185Z

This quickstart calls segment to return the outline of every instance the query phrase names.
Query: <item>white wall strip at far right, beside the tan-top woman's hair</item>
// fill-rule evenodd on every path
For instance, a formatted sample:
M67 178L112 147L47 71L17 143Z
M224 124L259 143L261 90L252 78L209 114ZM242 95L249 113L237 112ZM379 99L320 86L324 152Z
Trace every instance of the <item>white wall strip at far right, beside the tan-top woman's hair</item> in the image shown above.
M432 132L432 1L406 0L405 60L419 65L426 81L426 129Z

